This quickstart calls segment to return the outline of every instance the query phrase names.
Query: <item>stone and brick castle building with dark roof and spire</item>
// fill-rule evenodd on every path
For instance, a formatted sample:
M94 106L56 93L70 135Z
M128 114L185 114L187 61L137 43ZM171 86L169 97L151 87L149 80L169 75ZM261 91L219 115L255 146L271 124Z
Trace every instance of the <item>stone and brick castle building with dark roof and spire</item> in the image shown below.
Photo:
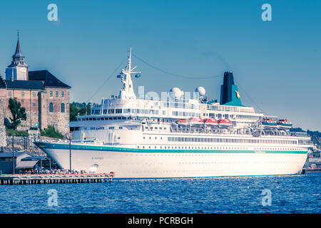
M21 121L19 130L35 127L43 130L53 125L66 135L69 132L70 88L47 70L29 71L18 39L11 64L6 68L6 76L0 76L0 110L3 110L0 128L4 128L3 119L11 117L9 98L17 98L26 108L26 120Z

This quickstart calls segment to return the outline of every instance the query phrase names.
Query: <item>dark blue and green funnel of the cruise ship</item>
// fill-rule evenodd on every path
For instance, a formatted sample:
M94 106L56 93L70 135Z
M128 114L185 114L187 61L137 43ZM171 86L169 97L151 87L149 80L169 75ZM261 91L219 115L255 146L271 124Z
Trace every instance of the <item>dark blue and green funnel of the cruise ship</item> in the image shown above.
M224 72L223 85L220 87L220 105L242 106L232 72Z

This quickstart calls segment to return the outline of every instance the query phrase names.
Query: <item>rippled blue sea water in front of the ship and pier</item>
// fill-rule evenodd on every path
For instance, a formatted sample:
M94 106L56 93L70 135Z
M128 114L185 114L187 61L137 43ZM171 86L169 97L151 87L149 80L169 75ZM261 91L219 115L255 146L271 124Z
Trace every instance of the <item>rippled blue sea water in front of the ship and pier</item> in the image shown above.
M321 213L321 173L1 185L0 213ZM57 191L57 206L48 204ZM271 206L263 206L263 190ZM54 202L54 201L51 201Z

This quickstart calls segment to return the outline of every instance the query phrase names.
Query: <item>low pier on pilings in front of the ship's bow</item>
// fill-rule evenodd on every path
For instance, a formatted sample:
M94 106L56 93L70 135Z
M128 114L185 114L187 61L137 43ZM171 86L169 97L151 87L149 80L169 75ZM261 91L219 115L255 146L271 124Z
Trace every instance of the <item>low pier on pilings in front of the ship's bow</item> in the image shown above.
M0 185L44 185L111 182L115 172L86 174L17 174L0 175Z

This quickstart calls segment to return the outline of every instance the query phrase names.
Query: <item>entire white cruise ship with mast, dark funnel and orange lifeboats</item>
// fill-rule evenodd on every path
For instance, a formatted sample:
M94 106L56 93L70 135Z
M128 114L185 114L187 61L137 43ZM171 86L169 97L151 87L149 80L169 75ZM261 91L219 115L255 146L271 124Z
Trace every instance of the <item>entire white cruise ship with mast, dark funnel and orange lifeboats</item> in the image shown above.
M62 169L114 172L116 178L293 175L311 147L284 118L243 105L233 73L225 72L220 100L205 88L174 87L161 98L138 96L131 50L117 76L118 95L103 98L90 115L70 123L72 140L34 142Z

